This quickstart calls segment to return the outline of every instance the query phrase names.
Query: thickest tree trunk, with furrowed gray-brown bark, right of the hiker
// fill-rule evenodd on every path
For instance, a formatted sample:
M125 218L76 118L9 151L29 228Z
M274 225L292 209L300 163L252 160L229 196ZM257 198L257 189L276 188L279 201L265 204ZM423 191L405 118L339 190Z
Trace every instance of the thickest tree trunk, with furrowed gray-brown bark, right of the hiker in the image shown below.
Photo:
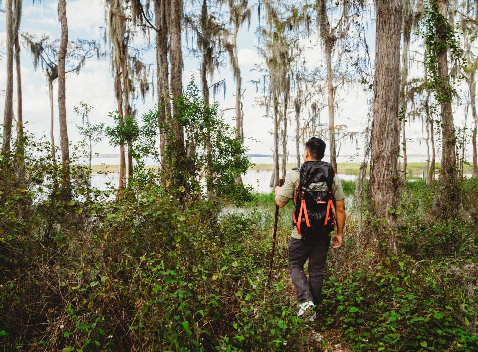
M373 217L386 220L381 222L378 229L371 229L364 242L370 243L375 234L379 234L386 240L388 249L397 253L399 247L393 227L396 219L394 210L400 200L397 121L400 91L401 0L377 0L376 14L375 100L368 196Z

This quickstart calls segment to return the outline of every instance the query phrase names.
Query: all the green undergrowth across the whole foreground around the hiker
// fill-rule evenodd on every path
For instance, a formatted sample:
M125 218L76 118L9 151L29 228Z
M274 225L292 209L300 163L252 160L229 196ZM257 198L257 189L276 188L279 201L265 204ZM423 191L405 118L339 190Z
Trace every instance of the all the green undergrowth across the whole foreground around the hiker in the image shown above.
M354 187L344 182L348 195ZM475 181L462 187L476 191ZM478 343L476 198L464 204L467 220L429 221L433 188L408 182L402 253L384 258L359 254L348 208L351 225L330 251L311 324L296 317L287 272L291 203L280 210L268 284L272 193L227 211L176 195L147 186L113 200L96 191L56 209L33 191L4 194L0 348L330 350L331 341L362 351L471 351ZM13 207L19 199L28 206ZM52 209L63 216L46 217Z

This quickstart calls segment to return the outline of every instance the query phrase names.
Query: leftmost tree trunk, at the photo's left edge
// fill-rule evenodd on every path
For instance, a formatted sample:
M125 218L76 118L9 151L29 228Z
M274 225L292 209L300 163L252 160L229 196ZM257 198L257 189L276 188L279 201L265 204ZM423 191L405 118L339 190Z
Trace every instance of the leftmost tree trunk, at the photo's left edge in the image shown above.
M12 21L12 0L6 0L6 62L7 62L7 84L5 87L4 106L4 130L2 134L2 154L8 161L10 155L10 141L12 138L13 121L13 21Z

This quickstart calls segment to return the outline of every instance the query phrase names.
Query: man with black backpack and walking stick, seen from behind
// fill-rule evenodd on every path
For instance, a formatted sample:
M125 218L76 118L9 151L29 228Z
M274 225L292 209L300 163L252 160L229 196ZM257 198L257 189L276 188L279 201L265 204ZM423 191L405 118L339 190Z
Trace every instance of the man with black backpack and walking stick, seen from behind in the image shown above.
M293 199L292 235L289 242L289 271L299 301L297 316L314 321L321 304L324 270L332 239L332 248L342 244L345 225L345 195L331 164L321 161L325 142L312 137L305 144L304 163L287 173L282 187L275 188L275 202L285 206ZM302 183L302 184L301 184ZM335 203L335 214L332 206ZM309 278L304 264L309 261Z

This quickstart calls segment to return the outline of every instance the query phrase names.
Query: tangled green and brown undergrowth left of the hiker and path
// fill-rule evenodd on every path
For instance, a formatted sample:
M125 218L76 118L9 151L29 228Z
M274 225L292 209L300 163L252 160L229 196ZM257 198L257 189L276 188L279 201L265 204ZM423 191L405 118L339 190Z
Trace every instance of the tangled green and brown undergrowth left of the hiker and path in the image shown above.
M93 220L57 228L51 248L41 244L47 224L35 211L15 220L32 232L0 242L0 265L8 268L0 274L2 348L307 348L284 273L268 285L272 215L217 221L217 205L184 209L153 189L70 206ZM278 243L276 262L284 254Z

